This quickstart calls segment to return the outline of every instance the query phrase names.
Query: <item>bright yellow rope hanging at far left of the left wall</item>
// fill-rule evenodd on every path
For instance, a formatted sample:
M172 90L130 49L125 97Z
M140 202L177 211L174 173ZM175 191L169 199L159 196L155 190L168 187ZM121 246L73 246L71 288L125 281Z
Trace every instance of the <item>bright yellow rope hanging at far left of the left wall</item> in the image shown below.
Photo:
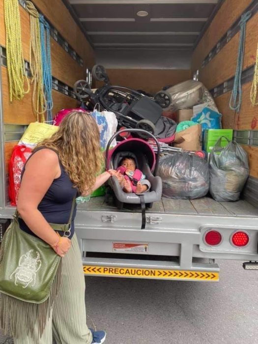
M9 96L10 102L12 102L13 98L21 100L26 93L29 93L29 80L25 72L19 3L17 0L4 1L4 22ZM27 90L24 89L24 77L28 85Z

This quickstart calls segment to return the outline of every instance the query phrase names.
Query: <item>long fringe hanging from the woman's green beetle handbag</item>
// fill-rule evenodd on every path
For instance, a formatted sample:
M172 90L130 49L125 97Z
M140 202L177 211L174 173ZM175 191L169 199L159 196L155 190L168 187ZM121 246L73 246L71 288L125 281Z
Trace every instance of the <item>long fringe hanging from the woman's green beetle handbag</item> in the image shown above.
M0 250L0 261L3 250ZM50 294L40 304L24 302L0 293L0 329L5 335L18 339L31 337L37 342L42 336L61 283L61 261L51 285Z

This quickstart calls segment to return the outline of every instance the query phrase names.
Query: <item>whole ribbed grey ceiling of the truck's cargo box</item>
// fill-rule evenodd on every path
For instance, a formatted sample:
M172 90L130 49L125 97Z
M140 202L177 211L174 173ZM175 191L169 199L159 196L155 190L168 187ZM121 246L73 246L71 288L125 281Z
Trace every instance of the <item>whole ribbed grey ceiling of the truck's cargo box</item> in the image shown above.
M192 49L224 0L63 1L69 1L95 49L159 51ZM147 15L138 16L139 11Z

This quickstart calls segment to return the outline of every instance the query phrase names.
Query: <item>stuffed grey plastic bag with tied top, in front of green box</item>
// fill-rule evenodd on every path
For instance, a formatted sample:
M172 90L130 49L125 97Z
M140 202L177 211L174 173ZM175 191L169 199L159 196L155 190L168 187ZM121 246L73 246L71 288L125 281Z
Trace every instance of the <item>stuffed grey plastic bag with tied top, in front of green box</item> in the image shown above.
M210 194L216 201L238 201L249 175L248 155L236 142L221 147L221 137L209 156Z

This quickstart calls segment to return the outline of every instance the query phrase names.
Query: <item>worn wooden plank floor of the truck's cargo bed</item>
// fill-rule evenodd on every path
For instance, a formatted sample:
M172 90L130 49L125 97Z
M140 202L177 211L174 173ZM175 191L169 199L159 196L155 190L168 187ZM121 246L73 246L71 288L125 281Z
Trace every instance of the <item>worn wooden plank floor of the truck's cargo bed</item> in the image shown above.
M78 204L78 210L90 211L134 211L141 212L137 205L125 204L123 210L118 210L115 205L108 205L104 197L91 198L84 204ZM154 202L148 213L186 214L186 215L217 215L217 216L255 216L258 217L258 209L245 200L236 202L214 201L210 197L203 197L198 200L172 200L162 198Z

